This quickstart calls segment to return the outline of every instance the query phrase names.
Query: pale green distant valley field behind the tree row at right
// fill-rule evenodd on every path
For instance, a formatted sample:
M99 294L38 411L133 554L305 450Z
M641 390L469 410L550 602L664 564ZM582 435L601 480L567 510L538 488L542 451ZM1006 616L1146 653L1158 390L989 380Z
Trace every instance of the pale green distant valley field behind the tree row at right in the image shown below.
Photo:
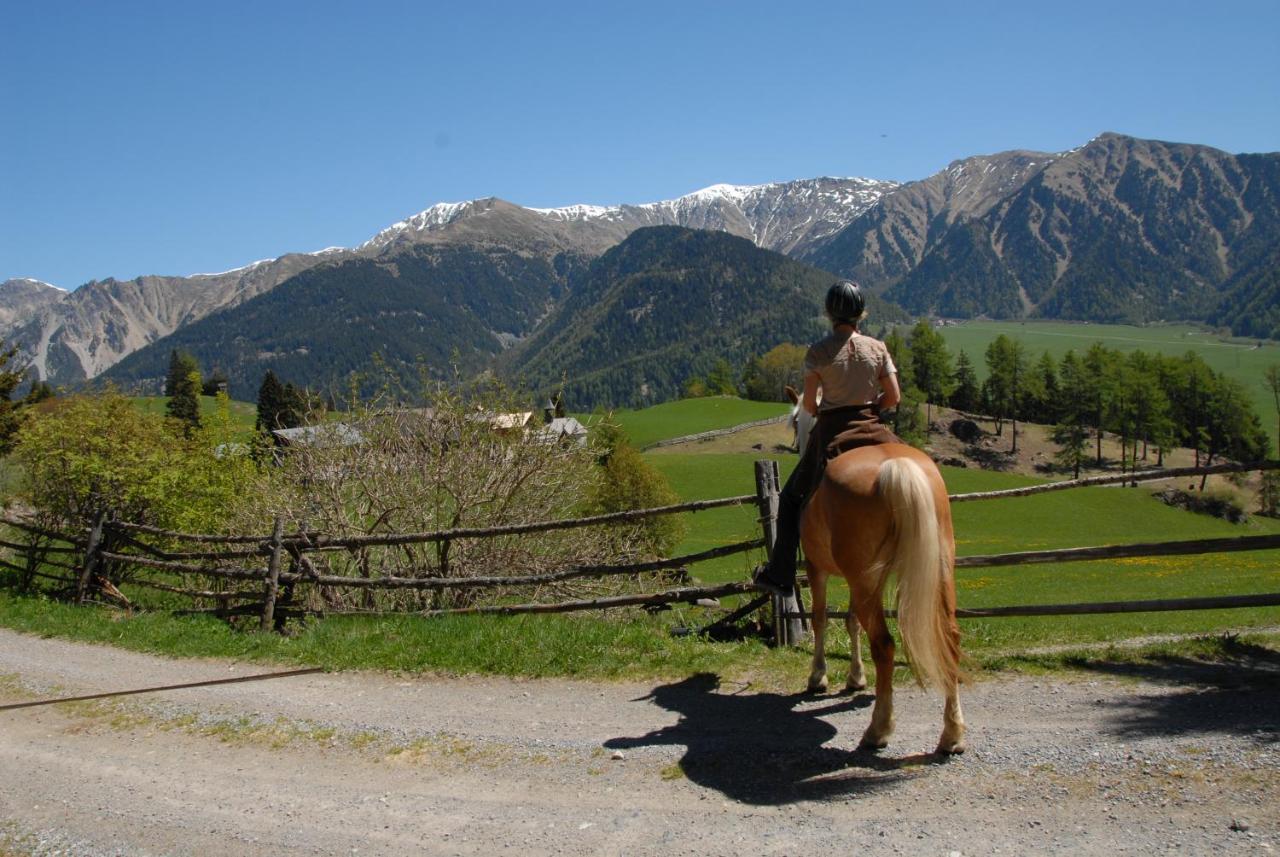
M1262 425L1276 440L1275 398L1263 380L1268 366L1280 366L1280 343L1272 340L1228 339L1189 325L1134 327L1062 321L964 321L940 327L938 333L947 340L952 356L961 349L969 354L979 380L987 376L983 353L1000 334L1020 340L1032 359L1048 352L1055 361L1061 361L1068 350L1080 354L1093 343L1120 352L1140 349L1170 357L1193 350L1215 371L1245 385Z

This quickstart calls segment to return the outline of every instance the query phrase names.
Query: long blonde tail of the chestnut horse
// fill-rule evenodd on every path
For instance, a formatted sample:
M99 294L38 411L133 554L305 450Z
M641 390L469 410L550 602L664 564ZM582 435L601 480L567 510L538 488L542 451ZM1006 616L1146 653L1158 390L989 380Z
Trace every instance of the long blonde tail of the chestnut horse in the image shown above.
M897 577L897 627L916 682L950 691L959 652L950 633L943 586L950 551L943 550L938 510L924 469L909 458L881 464L879 494L893 514L893 535L883 573ZM882 579L886 579L882 578Z

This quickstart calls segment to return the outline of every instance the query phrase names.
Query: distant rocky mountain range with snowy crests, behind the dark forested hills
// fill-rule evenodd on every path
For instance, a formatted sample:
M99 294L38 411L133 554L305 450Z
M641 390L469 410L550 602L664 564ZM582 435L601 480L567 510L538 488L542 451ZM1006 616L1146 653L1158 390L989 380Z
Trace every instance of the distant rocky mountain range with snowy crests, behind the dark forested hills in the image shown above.
M536 318L557 308L554 295L572 290L568 269L659 225L749 239L854 276L916 313L1179 318L1280 336L1280 153L1229 155L1107 133L1069 152L955 161L902 185L833 178L718 184L663 202L562 208L474 200L431 206L351 249L288 255L224 274L109 279L70 293L10 280L0 288L0 338L20 345L41 377L74 382L305 271L326 271L325 288L333 271L365 283L374 269L349 262L394 266L419 247L467 248L472 262L486 258L480 267L493 270L507 270L494 260L509 253L536 261L550 279L515 293L549 297L513 311ZM433 276L456 263L470 267L463 257L451 256ZM289 292L302 301L311 293ZM280 307L303 316L314 310ZM536 333L536 325L489 324L483 313L476 324L429 338L453 342L472 330L468 345L497 354L490 339L509 347ZM265 343L261 350L279 349Z

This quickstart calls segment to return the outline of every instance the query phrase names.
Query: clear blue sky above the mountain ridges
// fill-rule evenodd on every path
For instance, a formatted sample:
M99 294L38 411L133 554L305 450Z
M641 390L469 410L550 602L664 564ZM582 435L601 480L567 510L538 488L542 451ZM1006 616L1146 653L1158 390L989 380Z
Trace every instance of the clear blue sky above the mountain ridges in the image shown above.
M4 0L0 280L219 271L435 202L1280 150L1280 3Z

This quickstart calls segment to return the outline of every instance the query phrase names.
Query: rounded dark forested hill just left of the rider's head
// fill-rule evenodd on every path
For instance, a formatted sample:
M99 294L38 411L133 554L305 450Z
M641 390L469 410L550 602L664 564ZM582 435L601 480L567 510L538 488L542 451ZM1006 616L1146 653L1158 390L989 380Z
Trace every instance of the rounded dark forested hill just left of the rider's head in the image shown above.
M746 362L827 324L832 276L724 233L640 229L596 260L556 315L504 361L539 391L563 384L575 409L680 395L718 361ZM874 299L876 321L904 313Z

